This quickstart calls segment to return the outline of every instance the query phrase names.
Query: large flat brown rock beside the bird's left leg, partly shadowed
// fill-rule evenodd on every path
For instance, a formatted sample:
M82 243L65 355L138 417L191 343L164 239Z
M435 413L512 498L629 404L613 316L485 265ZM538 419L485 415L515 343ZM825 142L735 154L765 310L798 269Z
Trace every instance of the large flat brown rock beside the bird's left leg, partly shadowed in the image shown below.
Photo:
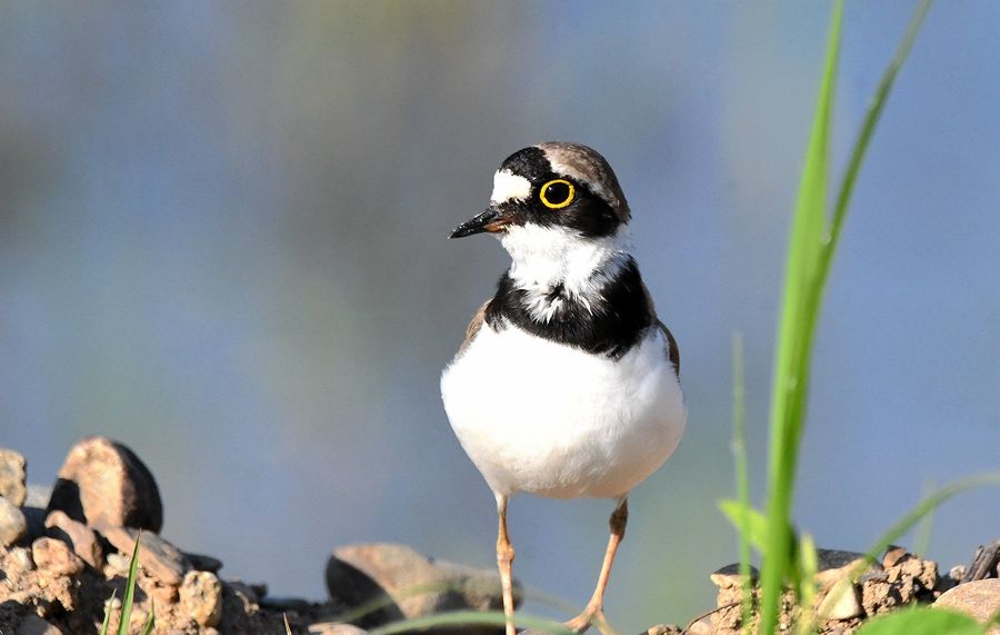
M514 584L514 603L521 588ZM433 560L404 545L360 544L333 552L327 564L327 588L334 599L359 606L377 598L391 604L362 622L380 624L443 611L502 608L494 572Z

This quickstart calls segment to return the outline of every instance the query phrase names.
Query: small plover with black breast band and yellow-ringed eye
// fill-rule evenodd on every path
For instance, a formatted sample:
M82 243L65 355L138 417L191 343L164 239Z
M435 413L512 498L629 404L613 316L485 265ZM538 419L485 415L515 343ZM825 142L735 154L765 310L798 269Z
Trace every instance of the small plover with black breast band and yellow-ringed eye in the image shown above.
M497 502L507 635L517 633L510 498L614 502L593 594L566 623L611 633L603 597L629 493L687 425L680 351L631 256L630 220L601 155L544 142L504 159L489 206L449 236L492 234L511 258L441 374L449 423Z

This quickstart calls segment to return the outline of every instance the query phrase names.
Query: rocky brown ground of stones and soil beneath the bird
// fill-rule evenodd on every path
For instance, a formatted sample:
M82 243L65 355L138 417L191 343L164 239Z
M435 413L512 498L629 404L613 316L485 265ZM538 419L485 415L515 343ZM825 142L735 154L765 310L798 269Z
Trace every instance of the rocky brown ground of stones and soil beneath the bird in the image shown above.
M132 632L153 608L160 634L280 634L288 619L293 633L358 635L402 618L501 606L494 572L434 560L403 545L336 549L327 563L324 603L273 598L266 585L224 579L221 562L187 553L159 535L163 508L156 479L134 453L107 438L73 446L51 488L26 484L24 457L0 449L0 635L97 633L109 607L117 631L137 538ZM983 621L1000 611L1000 540L943 575L937 563L902 547L867 566L861 557L820 549L821 633L849 634L867 617L912 603L934 603ZM736 565L710 577L719 587L716 611L686 628L657 625L646 633L739 633L742 585ZM787 604L784 624L798 617L790 595Z

